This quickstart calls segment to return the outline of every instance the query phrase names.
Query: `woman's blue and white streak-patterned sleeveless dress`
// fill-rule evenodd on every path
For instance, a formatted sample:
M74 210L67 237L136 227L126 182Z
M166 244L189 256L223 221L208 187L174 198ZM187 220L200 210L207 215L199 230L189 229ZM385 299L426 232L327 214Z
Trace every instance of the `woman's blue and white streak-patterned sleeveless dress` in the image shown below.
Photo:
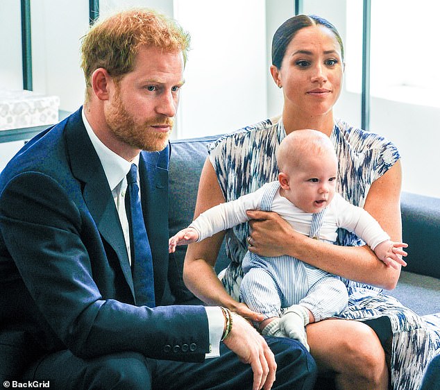
M232 201L254 192L264 183L278 178L276 150L285 137L282 121L267 119L253 126L225 135L208 146L209 158L217 173L219 185ZM379 135L335 121L330 139L339 158L337 192L353 205L364 207L374 180L380 178L400 158L396 146ZM243 278L242 259L246 254L248 224L226 232L226 252L231 262L223 275L223 285L234 298L239 297ZM339 230L337 244L359 246L364 242L353 233ZM394 389L418 389L423 370L430 359L440 353L440 328L437 319L427 323L395 298L382 295L382 290L351 280L345 319L389 317L393 342L391 346L391 383Z

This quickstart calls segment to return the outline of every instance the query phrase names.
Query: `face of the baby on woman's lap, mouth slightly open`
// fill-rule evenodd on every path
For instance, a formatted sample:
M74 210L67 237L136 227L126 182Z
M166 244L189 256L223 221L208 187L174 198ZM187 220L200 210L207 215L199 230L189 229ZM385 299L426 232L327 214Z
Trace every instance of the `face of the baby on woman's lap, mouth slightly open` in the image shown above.
M289 169L289 189L283 195L305 212L320 212L335 196L337 159L332 153L305 155Z

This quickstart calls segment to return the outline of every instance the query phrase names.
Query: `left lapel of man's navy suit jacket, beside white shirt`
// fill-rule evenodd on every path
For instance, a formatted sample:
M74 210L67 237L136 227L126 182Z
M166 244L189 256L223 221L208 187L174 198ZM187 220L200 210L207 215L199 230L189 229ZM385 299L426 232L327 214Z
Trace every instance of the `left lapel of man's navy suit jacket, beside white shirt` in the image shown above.
M72 173L84 183L83 197L87 209L101 236L117 254L122 272L134 297L133 278L115 201L101 161L85 130L81 109L69 120L66 126L66 137Z

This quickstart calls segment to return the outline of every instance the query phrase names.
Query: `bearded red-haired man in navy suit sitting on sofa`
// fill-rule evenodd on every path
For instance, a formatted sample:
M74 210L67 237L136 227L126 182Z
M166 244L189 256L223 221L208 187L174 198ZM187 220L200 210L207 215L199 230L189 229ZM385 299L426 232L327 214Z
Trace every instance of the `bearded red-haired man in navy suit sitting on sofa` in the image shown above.
M266 343L220 307L161 306L172 283L168 138L188 45L179 26L151 11L95 24L82 46L83 108L28 142L2 172L0 359L17 363L4 380L22 375L53 389L269 389L277 378L274 387L312 387L316 367L296 341ZM150 307L134 280L139 242L125 201L133 164L148 233L142 246L153 263L154 281L142 276L142 288L154 285Z

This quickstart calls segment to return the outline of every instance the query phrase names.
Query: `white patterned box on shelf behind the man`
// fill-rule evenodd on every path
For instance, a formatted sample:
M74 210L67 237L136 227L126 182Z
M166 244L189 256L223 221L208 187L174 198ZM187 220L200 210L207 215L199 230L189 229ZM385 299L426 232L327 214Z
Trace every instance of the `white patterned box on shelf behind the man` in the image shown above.
M60 98L0 89L0 130L56 124Z

